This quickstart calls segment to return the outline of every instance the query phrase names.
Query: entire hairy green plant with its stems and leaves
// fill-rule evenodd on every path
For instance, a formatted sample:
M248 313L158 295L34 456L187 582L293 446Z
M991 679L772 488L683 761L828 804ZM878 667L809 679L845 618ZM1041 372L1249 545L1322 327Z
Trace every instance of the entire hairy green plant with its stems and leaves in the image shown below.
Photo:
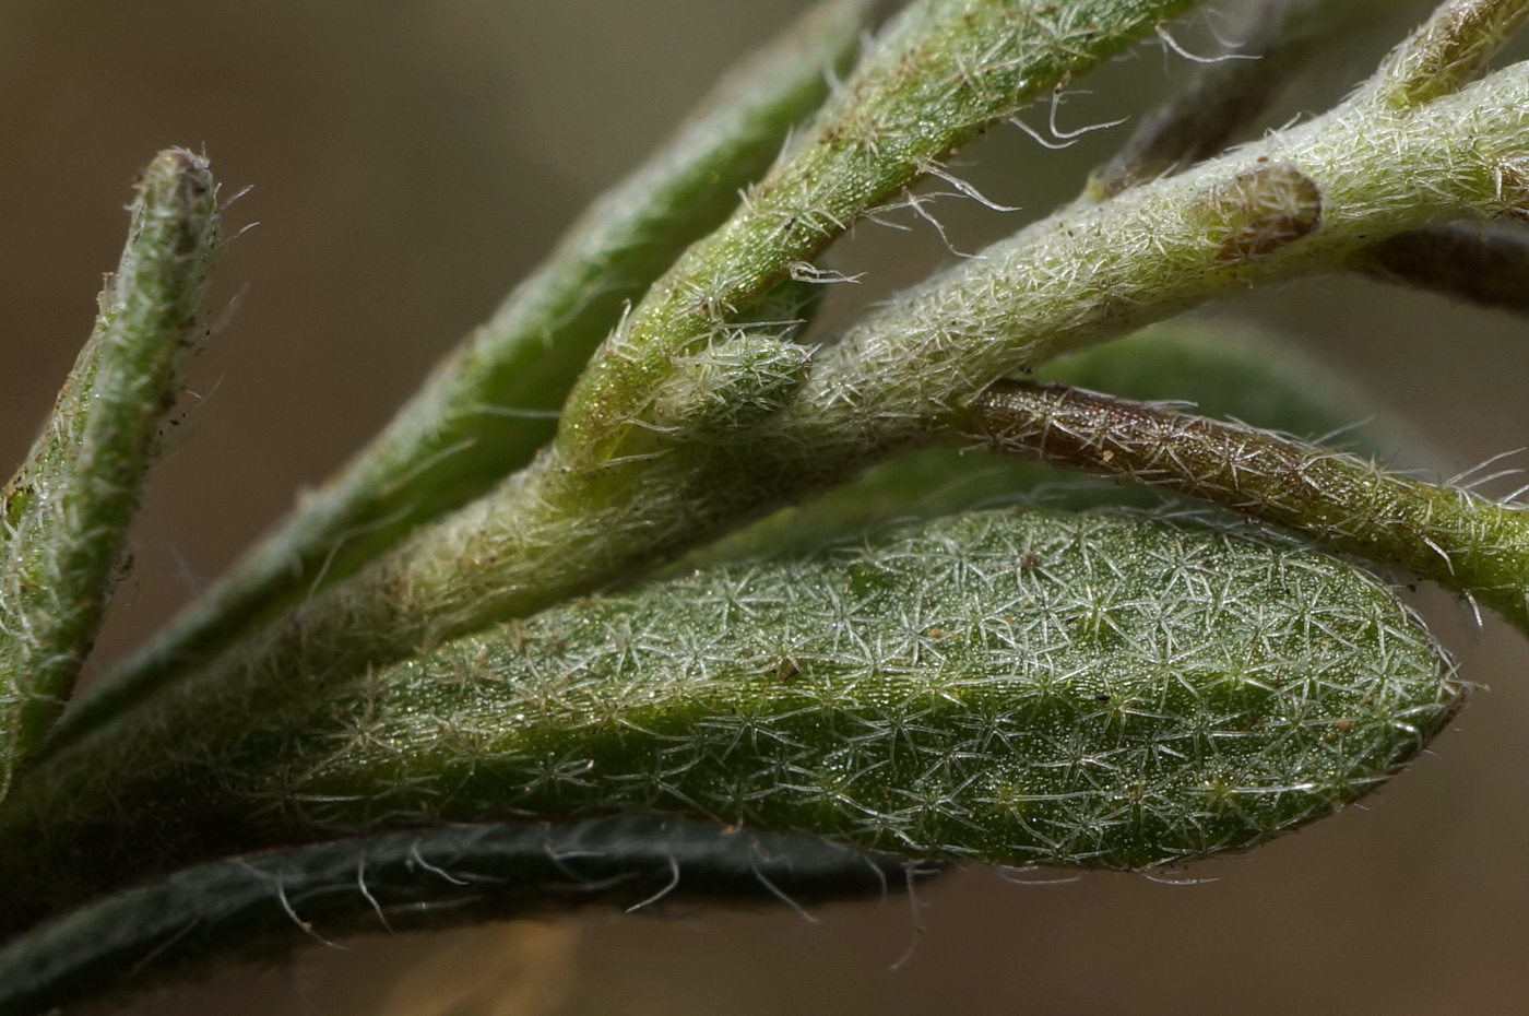
M1529 0L1451 0L1228 150L1365 6L1243 3L1257 60L1197 66L1078 200L809 331L855 222L974 196L962 144L1199 6L812 9L72 699L222 246L205 159L156 158L5 488L0 1013L315 927L1179 866L1402 768L1463 685L1368 566L1529 630L1524 514L1289 436L1362 413L1269 343L1147 326L1315 272L1523 308L1529 64L1486 64ZM1055 467L1136 487L1038 506Z

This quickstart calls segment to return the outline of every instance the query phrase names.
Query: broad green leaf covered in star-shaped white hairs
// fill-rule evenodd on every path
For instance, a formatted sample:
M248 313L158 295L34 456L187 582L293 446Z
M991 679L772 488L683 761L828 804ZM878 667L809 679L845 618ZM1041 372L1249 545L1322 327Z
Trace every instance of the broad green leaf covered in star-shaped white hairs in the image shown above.
M252 695L161 702L40 767L0 814L24 886L0 923L225 849L613 811L1142 871L1336 811L1462 701L1336 558L1053 511L579 601L320 685L301 718Z

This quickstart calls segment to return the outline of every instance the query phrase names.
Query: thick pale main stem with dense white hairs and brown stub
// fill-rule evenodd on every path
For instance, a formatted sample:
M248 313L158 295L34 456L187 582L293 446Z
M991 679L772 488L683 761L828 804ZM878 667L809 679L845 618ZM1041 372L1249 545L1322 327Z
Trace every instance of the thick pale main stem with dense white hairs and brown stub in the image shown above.
M180 705L147 712L194 713L197 699L229 693L300 707L370 666L630 580L928 441L1005 373L1255 282L1344 268L1394 233L1511 214L1529 194L1512 176L1524 158L1529 64L1518 64L1416 109L1344 106L1069 210L873 312L810 361L781 343L795 375L761 373L748 357L711 364L722 402L763 399L745 430L697 433L674 419L645 431L662 444L641 456L590 462L553 450L237 658L180 682ZM657 407L662 395L644 398ZM66 721L47 753L161 722L130 719L156 687L116 684ZM176 736L217 741L239 721L206 716Z

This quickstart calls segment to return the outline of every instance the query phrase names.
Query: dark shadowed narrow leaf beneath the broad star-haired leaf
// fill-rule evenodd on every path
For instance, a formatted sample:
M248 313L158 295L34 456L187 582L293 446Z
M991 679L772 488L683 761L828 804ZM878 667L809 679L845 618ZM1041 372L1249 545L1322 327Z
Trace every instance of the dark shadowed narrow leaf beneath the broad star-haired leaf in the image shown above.
M790 904L884 894L904 863L810 837L621 816L448 826L199 865L107 897L0 950L0 1016L193 978L217 961L362 932L564 909ZM784 894L789 894L786 897Z

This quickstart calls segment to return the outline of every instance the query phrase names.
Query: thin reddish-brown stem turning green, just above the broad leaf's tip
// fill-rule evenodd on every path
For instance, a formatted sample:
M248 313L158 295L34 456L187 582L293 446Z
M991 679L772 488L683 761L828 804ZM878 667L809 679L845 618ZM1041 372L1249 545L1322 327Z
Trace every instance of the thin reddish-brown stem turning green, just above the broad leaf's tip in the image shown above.
M1005 381L963 430L992 448L1124 476L1431 578L1529 633L1529 514L1373 464L1203 416Z

